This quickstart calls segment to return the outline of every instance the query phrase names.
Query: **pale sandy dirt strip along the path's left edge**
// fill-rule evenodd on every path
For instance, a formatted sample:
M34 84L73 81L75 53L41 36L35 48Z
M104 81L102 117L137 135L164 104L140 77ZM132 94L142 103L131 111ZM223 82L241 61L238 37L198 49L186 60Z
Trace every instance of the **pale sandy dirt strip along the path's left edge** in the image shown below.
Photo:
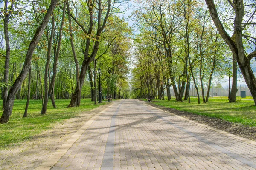
M99 106L79 116L58 122L51 130L44 131L19 144L0 150L0 170L35 170L91 117L111 104Z

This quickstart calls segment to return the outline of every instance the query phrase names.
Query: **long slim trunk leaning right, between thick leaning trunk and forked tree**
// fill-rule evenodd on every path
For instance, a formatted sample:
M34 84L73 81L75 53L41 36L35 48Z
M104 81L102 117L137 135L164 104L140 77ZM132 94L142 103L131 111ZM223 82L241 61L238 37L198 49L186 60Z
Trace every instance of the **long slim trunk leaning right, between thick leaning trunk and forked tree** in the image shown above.
M53 68L52 68L52 72L53 72L52 79L51 79L51 83L49 85L49 89L47 92L47 98L44 99L41 114L46 114L47 104L48 104L50 95L52 94L52 89L55 85L55 78L57 76L58 57L59 57L60 49L61 49L62 32L63 32L63 26L64 26L64 20L65 20L65 11L66 11L66 3L63 4L62 20L61 20L61 26L60 26L60 31L59 31L59 37L58 37L58 46L57 46L56 54L54 56L54 62L53 62Z

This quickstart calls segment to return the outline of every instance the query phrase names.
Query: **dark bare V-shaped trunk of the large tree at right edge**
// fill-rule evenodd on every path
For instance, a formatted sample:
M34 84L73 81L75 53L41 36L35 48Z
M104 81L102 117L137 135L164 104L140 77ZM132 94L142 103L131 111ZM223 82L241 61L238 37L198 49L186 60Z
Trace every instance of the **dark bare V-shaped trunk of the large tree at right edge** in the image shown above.
M218 12L214 4L214 0L205 0L205 2L207 3L212 20L215 23L215 26L217 27L219 33L221 34L221 37L225 40L227 45L230 47L233 55L236 57L236 61L243 74L245 82L253 96L254 104L256 105L256 77L250 66L250 60L253 59L253 57L256 57L256 51L253 51L250 54L246 55L244 52L246 50L244 49L244 44L242 40L242 31L246 26L246 24L243 24L242 27L242 21L245 13L244 2L243 0L234 0L233 3L229 1L230 5L235 11L234 34L232 37L227 34L224 26L220 21Z

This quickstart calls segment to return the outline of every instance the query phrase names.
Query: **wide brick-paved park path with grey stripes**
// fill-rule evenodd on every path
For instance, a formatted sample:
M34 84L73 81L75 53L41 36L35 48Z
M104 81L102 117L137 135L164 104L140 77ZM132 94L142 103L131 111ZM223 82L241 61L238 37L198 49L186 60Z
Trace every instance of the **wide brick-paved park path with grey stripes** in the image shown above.
M256 142L146 105L115 101L37 170L256 169Z

